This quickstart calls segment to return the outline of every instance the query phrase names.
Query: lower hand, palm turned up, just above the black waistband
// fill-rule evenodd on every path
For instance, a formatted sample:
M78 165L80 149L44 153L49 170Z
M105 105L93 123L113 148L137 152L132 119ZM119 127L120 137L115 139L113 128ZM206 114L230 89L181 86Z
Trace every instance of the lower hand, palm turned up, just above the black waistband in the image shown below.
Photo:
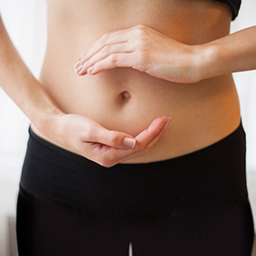
M96 121L80 115L61 115L54 121L57 122L54 126L56 142L106 167L147 154L170 123L168 117L155 119L137 137L132 137L103 128Z

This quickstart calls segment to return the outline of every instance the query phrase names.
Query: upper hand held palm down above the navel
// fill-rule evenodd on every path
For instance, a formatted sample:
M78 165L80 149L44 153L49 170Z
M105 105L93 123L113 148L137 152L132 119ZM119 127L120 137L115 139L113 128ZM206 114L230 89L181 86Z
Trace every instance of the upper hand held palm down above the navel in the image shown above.
M104 34L74 65L79 75L129 67L173 82L200 81L196 47L179 43L146 25Z

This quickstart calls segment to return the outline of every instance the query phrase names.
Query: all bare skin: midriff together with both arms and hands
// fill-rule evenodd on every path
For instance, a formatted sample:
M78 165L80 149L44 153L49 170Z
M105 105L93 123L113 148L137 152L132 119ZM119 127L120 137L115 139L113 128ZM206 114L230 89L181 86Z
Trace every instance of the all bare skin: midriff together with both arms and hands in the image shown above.
M185 155L240 123L232 72L256 69L256 26L229 34L231 17L212 0L48 1L40 81L0 19L0 86L40 137L101 166Z

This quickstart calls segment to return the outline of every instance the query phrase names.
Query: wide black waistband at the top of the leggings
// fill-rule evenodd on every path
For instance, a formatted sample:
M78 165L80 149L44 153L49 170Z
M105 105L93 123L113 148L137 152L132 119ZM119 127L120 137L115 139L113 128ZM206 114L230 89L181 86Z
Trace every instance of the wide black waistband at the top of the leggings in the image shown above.
M165 209L222 207L247 194L245 133L241 124L228 137L185 156L106 168L30 129L21 188L45 200L112 216L163 202Z

